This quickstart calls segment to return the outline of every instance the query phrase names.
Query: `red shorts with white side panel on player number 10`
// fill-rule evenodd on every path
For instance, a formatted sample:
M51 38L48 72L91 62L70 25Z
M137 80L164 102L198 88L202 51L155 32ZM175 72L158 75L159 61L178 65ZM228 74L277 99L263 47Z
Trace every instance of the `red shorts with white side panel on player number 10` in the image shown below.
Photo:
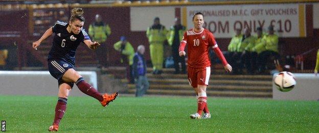
M211 67L206 68L187 68L188 81L194 88L199 85L208 85L209 77L211 76Z

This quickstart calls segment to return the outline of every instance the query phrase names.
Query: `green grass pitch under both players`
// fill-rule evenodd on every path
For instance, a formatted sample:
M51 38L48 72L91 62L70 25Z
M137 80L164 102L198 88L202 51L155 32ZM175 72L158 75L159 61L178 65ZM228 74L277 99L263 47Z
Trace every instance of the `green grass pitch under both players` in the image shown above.
M46 131L56 97L0 96L7 131ZM318 101L209 98L211 119L194 120L195 97L119 97L108 107L70 97L59 131L88 132L318 132Z

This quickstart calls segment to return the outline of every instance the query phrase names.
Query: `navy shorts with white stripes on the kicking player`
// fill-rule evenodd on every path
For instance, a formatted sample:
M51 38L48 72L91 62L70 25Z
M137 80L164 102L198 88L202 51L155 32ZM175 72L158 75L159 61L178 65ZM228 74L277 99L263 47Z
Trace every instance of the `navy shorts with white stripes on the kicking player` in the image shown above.
M73 87L73 82L65 82L62 80L62 76L64 73L69 69L74 69L75 66L69 62L63 60L49 60L48 61L48 68L50 74L58 80L58 84L67 83L71 87Z

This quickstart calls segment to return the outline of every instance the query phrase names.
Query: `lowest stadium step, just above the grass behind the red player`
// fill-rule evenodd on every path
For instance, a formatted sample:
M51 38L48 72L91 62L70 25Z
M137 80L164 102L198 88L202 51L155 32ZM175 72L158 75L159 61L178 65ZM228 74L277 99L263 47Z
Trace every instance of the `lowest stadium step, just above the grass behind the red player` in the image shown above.
M129 89L128 93L135 94L135 89ZM154 95L183 95L195 96L193 90L147 90L147 94ZM207 91L208 96L215 97L258 97L258 98L271 98L272 92L233 92L233 91Z

